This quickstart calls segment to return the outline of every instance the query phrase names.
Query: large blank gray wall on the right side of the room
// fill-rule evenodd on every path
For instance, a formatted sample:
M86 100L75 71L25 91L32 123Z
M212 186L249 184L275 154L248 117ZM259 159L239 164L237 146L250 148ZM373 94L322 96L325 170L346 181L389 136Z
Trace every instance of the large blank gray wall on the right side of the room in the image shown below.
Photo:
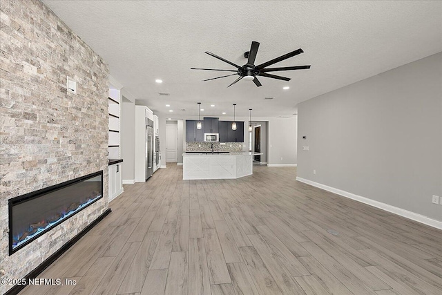
M298 104L298 177L442 221L441 65L438 53Z

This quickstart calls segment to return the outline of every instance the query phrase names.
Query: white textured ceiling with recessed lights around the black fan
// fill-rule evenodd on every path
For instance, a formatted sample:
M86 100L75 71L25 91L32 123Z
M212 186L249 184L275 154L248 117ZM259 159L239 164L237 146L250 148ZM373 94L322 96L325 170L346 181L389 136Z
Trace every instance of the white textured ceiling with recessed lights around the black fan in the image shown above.
M138 103L173 109L173 118L198 115L197 102L202 115L230 117L236 103L237 116L248 117L249 108L253 117L288 116L306 99L442 51L442 1L43 2ZM260 77L260 88L248 81L227 88L236 76L202 82L228 73L190 69L233 68L204 51L241 66L251 41L260 42L256 64L302 48L273 66L311 69L273 73L289 82Z

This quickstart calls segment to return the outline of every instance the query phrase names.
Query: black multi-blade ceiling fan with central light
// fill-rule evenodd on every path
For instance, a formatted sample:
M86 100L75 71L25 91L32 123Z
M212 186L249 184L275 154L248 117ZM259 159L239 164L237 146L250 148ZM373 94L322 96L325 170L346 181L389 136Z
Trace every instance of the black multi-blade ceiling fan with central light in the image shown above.
M300 53L303 53L304 51L302 51L301 48L294 50L291 53L281 55L280 57L276 57L275 59L271 59L271 60L265 62L264 64L260 64L258 66L255 66L255 59L256 59L256 54L258 53L259 46L260 46L259 42L256 42L256 41L251 42L250 51L247 51L246 53L244 53L244 57L247 58L247 64L244 64L244 66L238 66L237 64L233 64L233 62L228 61L227 59L223 59L222 57L219 57L218 55L214 55L213 53L209 53L209 51L206 51L205 52L206 54L211 55L217 59L220 59L220 60L226 62L227 64L234 66L237 69L236 70L222 70L224 72L236 72L236 73L231 74L231 75L221 76L221 77L215 77L215 78L211 78L211 79L205 79L203 81L209 81L209 80L213 80L213 79L220 79L220 78L229 77L229 76L233 76L233 75L239 75L240 77L238 77L238 79L233 81L227 87L232 86L236 82L240 81L240 79L244 79L244 80L248 80L248 81L253 80L253 83L255 83L257 87L259 87L259 86L261 86L261 83L259 82L257 76L273 78L273 79L280 79L280 80L284 80L284 81L290 81L290 78L268 74L268 72L278 72L281 70L305 70L305 69L310 68L310 66L285 66L282 68L267 68L267 66L271 66L272 64L276 64L277 62L283 61L285 59L288 59L290 57L294 57L295 55L299 55ZM221 69L217 69L217 68L191 68L191 70L221 70Z

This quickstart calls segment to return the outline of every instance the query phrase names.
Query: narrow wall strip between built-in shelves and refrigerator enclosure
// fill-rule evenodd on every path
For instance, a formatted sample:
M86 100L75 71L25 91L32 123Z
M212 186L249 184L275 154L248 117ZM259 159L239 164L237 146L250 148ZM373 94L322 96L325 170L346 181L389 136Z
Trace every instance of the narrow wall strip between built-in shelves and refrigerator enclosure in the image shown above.
M122 89L124 93L124 88ZM123 180L135 180L135 99L123 95L122 115L120 118L120 146L122 149Z

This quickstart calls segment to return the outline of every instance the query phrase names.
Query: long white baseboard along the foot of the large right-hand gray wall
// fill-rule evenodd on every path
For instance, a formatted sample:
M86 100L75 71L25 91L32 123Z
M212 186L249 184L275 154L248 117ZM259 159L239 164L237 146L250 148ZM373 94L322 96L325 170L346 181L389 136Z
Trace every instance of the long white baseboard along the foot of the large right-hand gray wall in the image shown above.
M332 193L336 193L337 195L343 196L345 198L356 200L356 201L364 203L364 204L369 204L370 206L373 206L373 207L376 207L376 208L379 208L379 209L383 209L385 211L397 214L399 216L403 216L405 218L408 218L408 219L411 219L411 220L414 220L414 221L417 221L417 222L421 222L424 225L429 225L430 227L435 227L436 229L442 229L442 222L439 221L439 220L434 220L432 218L429 218L427 216L423 216L423 215L418 214L418 213L414 213L412 211L407 211L405 209L394 207L392 205L385 204L383 202L378 202L376 200L372 200L372 199L369 199L369 198L358 196L358 195L355 195L354 193L349 193L348 191L343 191L341 189L336 189L334 187L329 187L328 185L320 184L318 182L307 180L305 178L296 177L296 180L298 180L300 182L304 182L304 183L310 184L313 187L318 187L318 188L323 189L325 191L330 191Z

